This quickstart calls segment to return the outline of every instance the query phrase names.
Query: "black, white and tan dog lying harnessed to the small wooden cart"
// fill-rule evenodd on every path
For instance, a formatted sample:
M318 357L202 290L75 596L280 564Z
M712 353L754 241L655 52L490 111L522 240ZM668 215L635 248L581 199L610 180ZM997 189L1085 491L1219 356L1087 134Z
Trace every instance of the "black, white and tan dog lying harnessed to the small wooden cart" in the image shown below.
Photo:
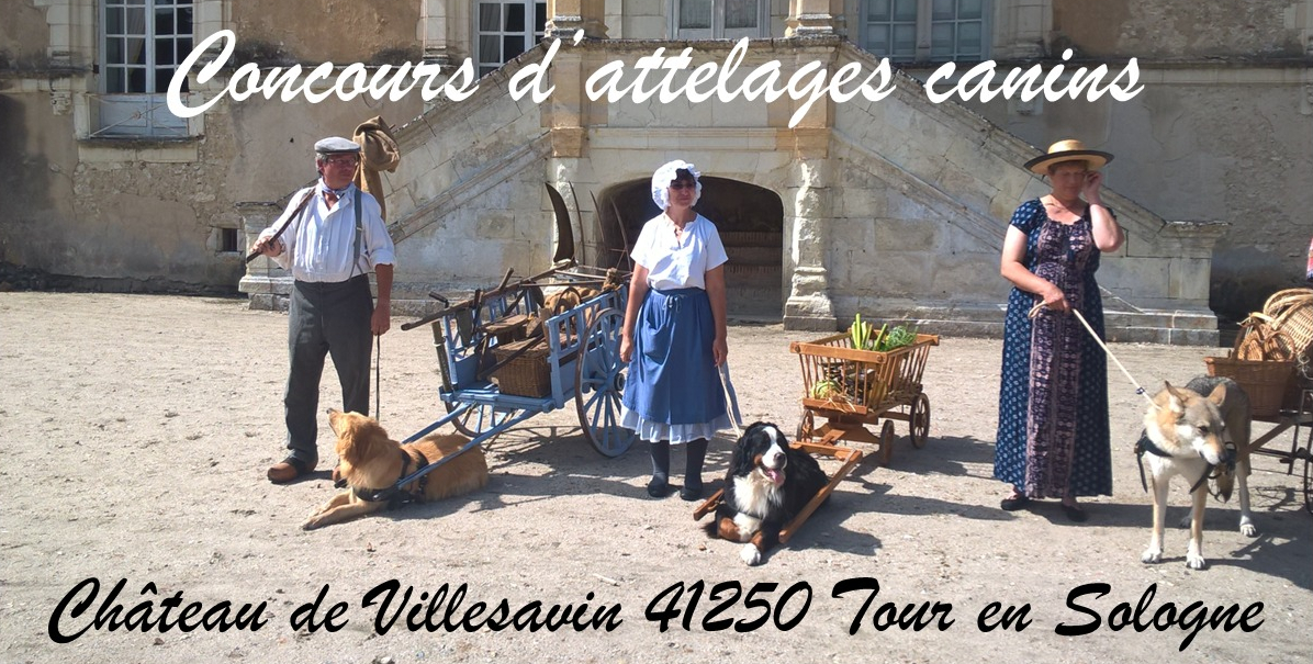
M779 543L780 529L829 482L821 465L806 451L790 447L779 426L752 423L734 445L725 497L708 533L748 542L739 558L759 564Z

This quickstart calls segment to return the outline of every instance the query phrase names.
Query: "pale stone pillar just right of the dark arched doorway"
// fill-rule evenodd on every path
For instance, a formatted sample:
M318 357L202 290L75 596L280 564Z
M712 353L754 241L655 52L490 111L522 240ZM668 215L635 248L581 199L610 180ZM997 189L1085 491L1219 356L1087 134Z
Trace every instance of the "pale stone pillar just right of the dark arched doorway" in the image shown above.
M793 276L784 303L785 329L834 332L839 327L830 302L831 180L830 160L807 156L793 163L784 193L785 228L789 232Z

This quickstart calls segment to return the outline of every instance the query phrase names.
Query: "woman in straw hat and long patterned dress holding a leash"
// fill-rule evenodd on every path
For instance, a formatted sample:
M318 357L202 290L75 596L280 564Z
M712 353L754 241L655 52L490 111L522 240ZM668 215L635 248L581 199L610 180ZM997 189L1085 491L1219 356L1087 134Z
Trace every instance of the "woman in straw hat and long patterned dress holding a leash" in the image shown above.
M1060 140L1025 163L1052 192L1022 203L1003 240L1002 273L1015 286L1007 303L994 476L1012 484L1002 508L1061 499L1085 521L1078 496L1112 495L1107 363L1071 315L1103 336L1103 302L1094 273L1099 253L1125 241L1103 205L1104 164L1112 155ZM1033 311L1033 314L1032 314Z

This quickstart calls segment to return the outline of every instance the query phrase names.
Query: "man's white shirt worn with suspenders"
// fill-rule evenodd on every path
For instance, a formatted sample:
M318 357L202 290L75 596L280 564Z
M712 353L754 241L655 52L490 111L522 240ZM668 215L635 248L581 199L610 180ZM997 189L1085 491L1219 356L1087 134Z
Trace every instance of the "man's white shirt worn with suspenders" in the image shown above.
M260 232L260 239L269 238L288 219L307 189L297 192L278 220ZM324 199L324 184L320 180L306 209L294 219L286 231L278 236L284 251L273 259L284 269L291 270L297 281L340 282L357 274L366 274L376 265L397 262L397 248L387 235L378 201L373 196L360 193L360 226L364 238L360 241L360 261L352 265L356 252L356 185L348 185L332 210Z

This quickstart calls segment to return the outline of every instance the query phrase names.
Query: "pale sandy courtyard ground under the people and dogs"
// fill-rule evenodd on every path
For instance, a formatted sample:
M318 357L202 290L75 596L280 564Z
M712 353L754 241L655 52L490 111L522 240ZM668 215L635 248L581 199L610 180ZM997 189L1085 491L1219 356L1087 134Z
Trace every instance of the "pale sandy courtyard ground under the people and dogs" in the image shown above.
M441 407L427 329L400 332L395 324L382 344L382 423L400 438L436 420ZM1186 568L1186 533L1175 529L1167 560L1141 564L1150 508L1132 444L1144 402L1116 369L1116 493L1088 505L1090 522L1069 524L1053 503L998 509L1003 487L990 474L999 342L945 339L924 379L928 445L916 450L901 440L892 467L868 457L789 546L747 568L738 545L706 539L691 504L646 497L646 450L635 446L616 459L595 453L572 405L492 442L492 479L482 493L302 531L311 508L332 492L334 457L322 421L320 472L286 487L264 479L282 455L285 328L284 315L231 299L0 294L0 660L1313 659L1313 516L1301 505L1302 466L1291 476L1271 457L1255 461L1257 538L1238 533L1234 504L1209 508L1208 570ZM730 336L744 415L792 432L801 375L788 341L807 335L742 325ZM1145 384L1184 382L1209 354L1152 345L1115 352ZM331 375L323 405L339 402ZM905 424L898 433L906 436ZM1285 433L1270 446L1289 441ZM729 446L729 438L713 442L709 480L723 472ZM1178 486L1173 504L1184 503ZM98 581L95 598L88 579ZM374 593L369 606L365 600L394 580L400 591L385 618L398 614L407 588L412 593L385 631L376 622L382 596ZM681 593L664 592L681 583ZM731 592L735 583L742 596ZM1069 593L1086 584L1107 584L1107 594L1075 591L1069 606ZM836 585L850 589L836 597ZM424 608L444 588L431 630ZM448 630L440 623L460 589L452 622L477 602L492 613L506 600L512 615L561 605L584 629L495 631L482 623L484 613L473 631ZM305 621L294 627L298 608L320 592L318 629ZM175 597L181 606L165 631L161 605ZM154 605L147 629L146 609L129 612L142 602ZM1024 608L1025 629L986 631L977 617L991 602ZM1123 602L1130 608L1117 609ZM1195 602L1201 606L1187 612ZM244 609L246 627L183 631L173 623L192 604L200 609L188 622L225 612L231 621ZM889 626L892 614L910 622L907 614L924 606L928 617L936 604L935 621L920 630ZM1137 604L1146 606L1141 627L1169 605L1191 621L1218 606L1237 610L1230 630L1203 626L1182 654L1195 626L1167 625L1162 613L1161 630L1137 630L1127 625ZM114 605L123 606L117 617ZM723 612L713 615L717 605ZM656 619L672 609L679 613L663 631ZM1245 610L1247 631L1236 626ZM97 614L113 619L97 626ZM608 615L613 629L593 627ZM138 627L110 629L125 617ZM738 629L716 622L726 618ZM1061 623L1095 619L1088 634L1056 633ZM72 640L56 644L53 625Z

